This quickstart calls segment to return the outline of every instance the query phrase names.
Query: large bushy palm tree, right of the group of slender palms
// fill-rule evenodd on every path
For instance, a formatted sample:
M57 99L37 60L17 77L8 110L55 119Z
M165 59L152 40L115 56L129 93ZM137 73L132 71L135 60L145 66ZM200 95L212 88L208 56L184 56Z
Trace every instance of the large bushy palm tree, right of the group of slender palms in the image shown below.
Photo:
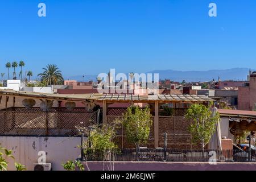
M64 79L56 64L48 64L43 70L43 73L38 74L41 77L41 81L46 81L48 85L63 84Z

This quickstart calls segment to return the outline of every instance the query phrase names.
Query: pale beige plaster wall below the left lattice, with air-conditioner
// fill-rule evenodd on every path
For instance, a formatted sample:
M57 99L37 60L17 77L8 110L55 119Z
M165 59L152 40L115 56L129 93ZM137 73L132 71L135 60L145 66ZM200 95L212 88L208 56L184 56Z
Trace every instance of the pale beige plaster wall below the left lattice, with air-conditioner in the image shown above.
M64 170L61 166L67 160L79 157L80 137L0 137L2 147L13 150L15 160L9 159L9 170L15 170L14 161L22 163L27 170L33 170L38 162L38 152L46 152L46 162L51 163L53 171Z

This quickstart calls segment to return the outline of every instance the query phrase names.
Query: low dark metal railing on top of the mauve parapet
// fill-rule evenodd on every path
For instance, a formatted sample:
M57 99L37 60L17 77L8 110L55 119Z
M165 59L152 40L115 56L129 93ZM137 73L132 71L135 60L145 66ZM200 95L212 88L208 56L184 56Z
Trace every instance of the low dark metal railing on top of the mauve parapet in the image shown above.
M167 148L140 147L122 150L112 154L112 161L154 161L154 162L256 162L255 154L249 160L248 151L241 150L174 150ZM106 158L108 159L108 158ZM105 159L105 160L106 160Z

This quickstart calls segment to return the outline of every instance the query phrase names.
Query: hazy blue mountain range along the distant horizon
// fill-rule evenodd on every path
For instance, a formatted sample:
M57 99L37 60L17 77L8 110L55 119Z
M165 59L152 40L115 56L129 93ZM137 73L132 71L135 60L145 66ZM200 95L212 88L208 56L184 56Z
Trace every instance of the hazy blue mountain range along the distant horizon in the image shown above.
M173 81L211 81L218 80L246 80L249 74L249 68L232 68L232 69L213 69L209 71L175 71L171 69L167 70L154 70L147 73L159 73L159 79L171 79ZM69 80L77 81L96 81L97 75L82 75L65 77Z

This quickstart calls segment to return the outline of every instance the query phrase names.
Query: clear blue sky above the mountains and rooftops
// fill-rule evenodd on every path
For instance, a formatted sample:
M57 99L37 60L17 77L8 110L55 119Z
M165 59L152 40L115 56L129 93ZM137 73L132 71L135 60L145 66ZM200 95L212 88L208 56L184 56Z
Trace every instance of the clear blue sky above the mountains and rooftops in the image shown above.
M255 0L5 0L0 25L0 72L14 60L34 75L54 63L64 76L256 68Z

